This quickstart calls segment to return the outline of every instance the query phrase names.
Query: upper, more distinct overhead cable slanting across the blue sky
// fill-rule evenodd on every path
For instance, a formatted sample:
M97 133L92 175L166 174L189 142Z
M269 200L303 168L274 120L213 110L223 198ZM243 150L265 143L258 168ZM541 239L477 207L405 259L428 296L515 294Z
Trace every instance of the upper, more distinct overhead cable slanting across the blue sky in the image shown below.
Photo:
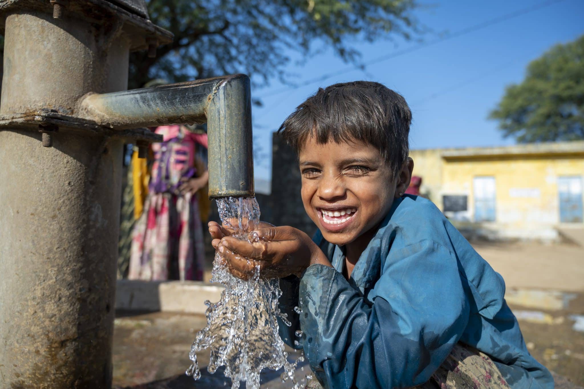
M469 33L472 33L472 32L478 31L478 30L482 30L482 29L485 29L485 28L490 27L492 25L496 25L498 23L505 22L506 20L517 18L517 17L522 16L522 15L526 15L527 13L537 11L538 9L541 9L541 8L544 8L544 7L547 7L547 6L550 6L552 4L562 2L562 1L564 1L564 0L544 1L544 2L538 3L536 5L532 5L532 6L520 9L519 11L507 13L506 15L498 16L497 18L493 18L490 20L486 20L485 22L478 23L477 25L466 27L462 30L458 30L457 32L447 34L444 37L440 37L440 38L434 39L432 41L427 41L427 42L418 44L418 46L406 48L404 50L399 50L399 51L396 51L395 53L391 53L391 54L381 55L380 57L373 58L372 60L364 62L361 65L353 65L351 67L347 67L347 68L344 68L342 70L338 70L336 72L325 73L325 74L320 75L318 77L308 79L308 80L306 80L306 81L304 81L301 84L298 84L296 86L277 89L276 91L266 93L265 95L262 96L262 98L266 98L266 97L273 96L273 95L279 95L280 93L283 93L283 92L293 91L294 89L299 89L299 88L302 88L303 86L307 86L307 85L315 84L316 82L324 81L325 79L329 79L332 77L336 77L338 75L346 74L346 73L352 72L354 70L359 70L363 67L377 64L378 62L383 62L383 61L387 61L387 60L390 60L390 59L395 58L395 57L399 57L400 55L413 53L413 51L418 51L421 48L433 46L434 44L442 43L443 41L446 41L446 40L450 40L453 38L463 36L465 34L469 34Z

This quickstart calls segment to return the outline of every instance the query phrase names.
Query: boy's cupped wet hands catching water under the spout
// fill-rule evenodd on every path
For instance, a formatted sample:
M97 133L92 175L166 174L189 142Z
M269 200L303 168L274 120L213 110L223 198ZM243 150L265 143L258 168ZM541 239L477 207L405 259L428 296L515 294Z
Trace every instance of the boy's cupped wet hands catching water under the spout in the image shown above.
M248 234L251 241L234 237L221 238L217 249L232 275L248 279L260 267L260 276L281 278L300 276L310 265L331 266L321 249L304 232L296 228L259 228Z

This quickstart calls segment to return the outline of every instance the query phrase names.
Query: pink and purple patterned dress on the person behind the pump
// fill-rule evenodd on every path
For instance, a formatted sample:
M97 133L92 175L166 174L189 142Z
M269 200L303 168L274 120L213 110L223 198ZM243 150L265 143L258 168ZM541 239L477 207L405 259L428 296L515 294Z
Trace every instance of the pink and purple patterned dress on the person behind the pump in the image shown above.
M152 144L154 164L144 212L134 227L129 279L202 280L204 245L197 195L180 194L182 178L196 176L197 145L206 134L182 126L161 126L164 137Z

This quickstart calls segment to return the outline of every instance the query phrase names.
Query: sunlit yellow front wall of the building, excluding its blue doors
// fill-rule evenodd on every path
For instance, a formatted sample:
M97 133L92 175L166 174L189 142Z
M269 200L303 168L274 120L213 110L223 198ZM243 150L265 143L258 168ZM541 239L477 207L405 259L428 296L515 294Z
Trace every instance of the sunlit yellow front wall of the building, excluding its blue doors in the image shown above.
M496 220L482 223L500 237L557 238L559 176L584 179L584 158L502 158L482 161L445 161L442 194L468 196L467 220L475 214L473 179L495 178Z

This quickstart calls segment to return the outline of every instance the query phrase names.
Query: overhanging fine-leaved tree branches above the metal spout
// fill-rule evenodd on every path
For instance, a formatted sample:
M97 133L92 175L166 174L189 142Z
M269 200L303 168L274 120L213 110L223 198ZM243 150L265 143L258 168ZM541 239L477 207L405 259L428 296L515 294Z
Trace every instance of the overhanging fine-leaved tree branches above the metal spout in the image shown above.
M147 0L147 6L152 22L175 39L156 58L131 54L130 88L152 78L180 82L238 72L256 85L272 77L288 82L290 49L307 58L331 47L358 63L357 40L420 32L411 16L416 0Z

